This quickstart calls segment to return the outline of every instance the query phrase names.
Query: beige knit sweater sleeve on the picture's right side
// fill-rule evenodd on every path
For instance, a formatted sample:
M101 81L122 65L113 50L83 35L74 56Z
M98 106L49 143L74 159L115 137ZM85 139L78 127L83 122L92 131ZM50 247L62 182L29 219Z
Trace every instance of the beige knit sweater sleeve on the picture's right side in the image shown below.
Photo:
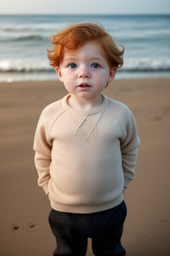
M124 137L121 139L122 167L124 171L124 186L128 187L129 182L135 176L135 164L137 161L137 147L140 145L137 135L137 127L132 113L128 109L124 123Z

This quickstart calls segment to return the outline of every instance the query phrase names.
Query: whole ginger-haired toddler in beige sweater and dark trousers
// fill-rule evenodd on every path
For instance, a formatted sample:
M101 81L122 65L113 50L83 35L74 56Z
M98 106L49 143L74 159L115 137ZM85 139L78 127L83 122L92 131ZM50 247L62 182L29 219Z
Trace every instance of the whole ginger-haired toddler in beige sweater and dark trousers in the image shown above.
M52 207L54 256L126 255L124 191L134 177L139 138L131 111L102 92L118 67L119 49L101 25L70 25L48 50L68 95L46 107L35 133L39 185Z

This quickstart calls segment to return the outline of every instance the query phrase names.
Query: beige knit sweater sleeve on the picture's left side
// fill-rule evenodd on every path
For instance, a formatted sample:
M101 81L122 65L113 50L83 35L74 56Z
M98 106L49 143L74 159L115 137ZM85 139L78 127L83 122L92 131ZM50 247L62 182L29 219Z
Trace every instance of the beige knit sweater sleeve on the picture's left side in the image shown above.
M38 184L41 186L46 195L48 194L48 182L50 180L50 163L52 141L48 139L48 130L50 121L48 113L42 111L37 130L35 132L35 141L33 149L35 150L35 167L37 168L39 179Z

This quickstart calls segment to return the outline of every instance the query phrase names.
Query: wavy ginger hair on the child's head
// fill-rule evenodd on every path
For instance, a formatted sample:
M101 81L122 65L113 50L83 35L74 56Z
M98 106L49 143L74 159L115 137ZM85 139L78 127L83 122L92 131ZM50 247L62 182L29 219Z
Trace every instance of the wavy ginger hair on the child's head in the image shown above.
M52 67L57 67L64 58L64 48L78 51L82 45L89 41L97 41L104 50L109 67L122 67L124 64L124 47L119 49L111 35L104 30L102 25L95 23L81 23L69 25L62 31L51 36L52 50L47 49L47 57Z

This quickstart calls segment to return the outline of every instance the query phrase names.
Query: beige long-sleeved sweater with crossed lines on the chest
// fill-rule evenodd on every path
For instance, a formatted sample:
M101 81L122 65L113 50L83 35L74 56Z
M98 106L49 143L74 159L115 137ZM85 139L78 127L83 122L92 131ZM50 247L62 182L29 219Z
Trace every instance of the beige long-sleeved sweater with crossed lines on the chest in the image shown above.
M38 183L51 207L94 213L120 204L134 177L139 138L126 105L102 95L95 109L76 110L70 95L42 111L35 133Z

